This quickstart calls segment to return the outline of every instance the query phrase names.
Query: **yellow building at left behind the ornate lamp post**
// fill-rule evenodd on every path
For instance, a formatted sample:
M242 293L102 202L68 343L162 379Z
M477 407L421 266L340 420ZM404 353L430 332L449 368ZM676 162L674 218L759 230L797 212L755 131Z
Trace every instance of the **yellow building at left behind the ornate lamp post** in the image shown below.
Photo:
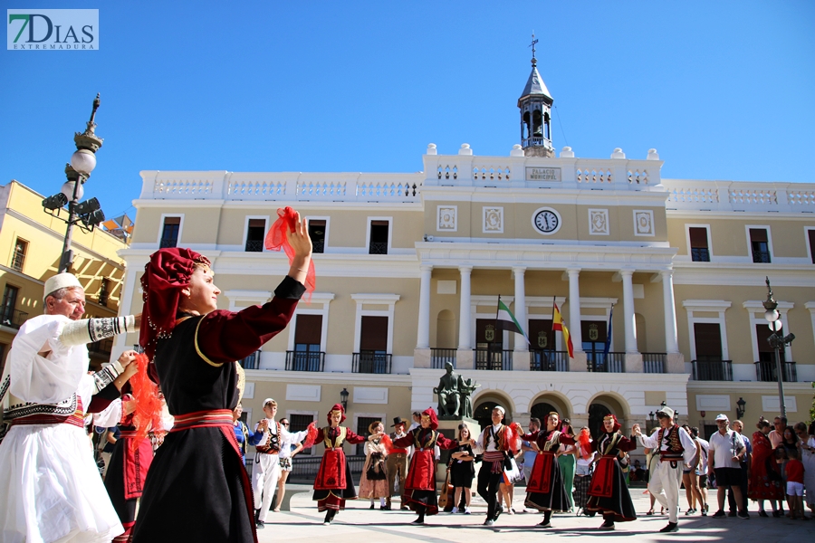
M44 282L59 268L65 223L43 212L43 195L18 181L0 186L0 360L26 319L43 313ZM67 217L67 211L61 210ZM127 244L101 228L84 233L73 228L72 272L85 288L87 317L115 317L119 312L124 261L117 254ZM112 340L88 346L91 367L110 358Z

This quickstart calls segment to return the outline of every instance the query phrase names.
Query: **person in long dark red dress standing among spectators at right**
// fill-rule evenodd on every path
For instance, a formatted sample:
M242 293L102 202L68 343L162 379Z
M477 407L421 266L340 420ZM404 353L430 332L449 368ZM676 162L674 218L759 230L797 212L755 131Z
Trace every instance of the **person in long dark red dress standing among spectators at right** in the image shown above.
M767 437L772 425L762 417L756 427L758 432L753 433L753 462L750 465L750 480L747 481L747 497L758 501L760 517L768 516L764 510L764 500L770 500L772 516L781 517L777 502L783 503L784 488L772 443Z

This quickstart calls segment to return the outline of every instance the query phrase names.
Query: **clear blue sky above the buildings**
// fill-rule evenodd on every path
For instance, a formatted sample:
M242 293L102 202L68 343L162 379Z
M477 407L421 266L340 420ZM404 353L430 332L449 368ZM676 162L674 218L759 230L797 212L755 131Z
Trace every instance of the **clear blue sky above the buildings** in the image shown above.
M506 156L533 30L555 148L815 181L810 0L4 4L100 9L98 52L0 51L0 183L57 192L101 92L85 195L109 217L145 169L414 172L430 142Z

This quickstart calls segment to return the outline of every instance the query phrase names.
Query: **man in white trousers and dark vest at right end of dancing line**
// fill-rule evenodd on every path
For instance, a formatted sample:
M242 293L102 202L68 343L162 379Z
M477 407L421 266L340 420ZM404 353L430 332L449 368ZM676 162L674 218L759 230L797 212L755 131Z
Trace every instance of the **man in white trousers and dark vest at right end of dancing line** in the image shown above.
M665 405L657 411L659 430L647 436L639 424L634 424L634 435L643 447L659 454L657 468L648 474L648 491L668 512L668 523L660 532L675 532L679 527L679 487L682 470L694 468L696 443L684 428L674 423L674 410Z

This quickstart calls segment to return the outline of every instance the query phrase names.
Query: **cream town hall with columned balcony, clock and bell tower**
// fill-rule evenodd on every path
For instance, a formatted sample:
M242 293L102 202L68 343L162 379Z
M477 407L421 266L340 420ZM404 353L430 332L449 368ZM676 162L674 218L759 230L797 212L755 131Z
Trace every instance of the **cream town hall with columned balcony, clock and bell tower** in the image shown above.
M317 291L243 361L250 419L273 397L295 428L322 423L345 389L348 424L364 432L435 406L452 361L481 384L480 421L497 403L523 424L557 410L597 431L610 412L628 431L666 401L709 431L739 398L748 420L778 413L761 303L769 275L797 336L781 355L787 409L808 419L815 185L663 179L655 149L555 157L552 101L533 64L518 101L523 145L479 157L430 144L415 174L143 171L138 227L120 252L123 310L141 308L149 254L176 245L212 259L219 307L269 300L288 263L264 250L264 235L292 205L309 219ZM499 295L530 345L495 329ZM551 332L553 303L573 358Z

